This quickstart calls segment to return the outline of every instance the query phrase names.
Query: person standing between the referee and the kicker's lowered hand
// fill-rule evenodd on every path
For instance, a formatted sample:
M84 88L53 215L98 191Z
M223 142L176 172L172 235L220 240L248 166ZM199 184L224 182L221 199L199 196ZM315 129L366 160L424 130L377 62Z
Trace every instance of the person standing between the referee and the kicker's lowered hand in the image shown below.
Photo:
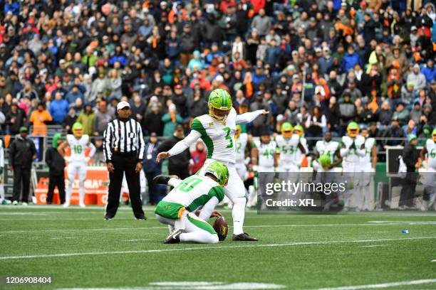
M157 135L155 132L150 134L150 141L145 145L145 156L144 159L144 172L145 178L147 178L148 194L150 197L150 205L156 205L159 201L159 186L153 182L153 178L159 175L161 172L161 163L156 162L157 149L160 144L157 141Z

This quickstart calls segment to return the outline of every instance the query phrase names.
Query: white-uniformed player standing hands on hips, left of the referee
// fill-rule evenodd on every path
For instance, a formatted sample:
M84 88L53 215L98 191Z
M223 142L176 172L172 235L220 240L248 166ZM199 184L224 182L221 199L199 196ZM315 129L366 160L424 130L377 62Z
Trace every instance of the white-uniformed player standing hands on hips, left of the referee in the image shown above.
M74 123L73 135L68 134L66 141L58 146L58 152L61 156L65 155L65 149L70 148L71 156L65 158L68 162L68 187L66 190L66 199L63 204L64 208L70 206L71 193L73 192L73 182L76 174L79 179L79 206L85 208L85 178L86 178L86 163L95 154L95 146L90 143L88 135L83 135L83 126L81 123ZM89 148L89 156L85 156L85 149Z

